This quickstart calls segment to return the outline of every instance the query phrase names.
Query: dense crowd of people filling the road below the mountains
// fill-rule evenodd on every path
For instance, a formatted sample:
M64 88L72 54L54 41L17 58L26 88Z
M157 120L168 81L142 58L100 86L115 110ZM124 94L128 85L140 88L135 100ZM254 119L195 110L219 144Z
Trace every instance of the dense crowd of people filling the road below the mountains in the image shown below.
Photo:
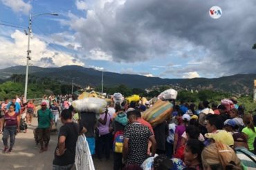
M152 103L112 101L98 115L76 113L71 105L76 99L44 96L41 109L36 111L33 100L16 97L9 102L6 98L1 104L3 153L12 151L21 121L26 118L26 124L31 125L36 112L40 153L48 150L51 130L59 119L62 122L53 169L74 168L80 134L86 136L93 159L111 161L113 154L114 170L256 169L256 117L246 113L237 98L220 103L205 100L198 106L169 100L173 104L170 116L154 126L143 119Z

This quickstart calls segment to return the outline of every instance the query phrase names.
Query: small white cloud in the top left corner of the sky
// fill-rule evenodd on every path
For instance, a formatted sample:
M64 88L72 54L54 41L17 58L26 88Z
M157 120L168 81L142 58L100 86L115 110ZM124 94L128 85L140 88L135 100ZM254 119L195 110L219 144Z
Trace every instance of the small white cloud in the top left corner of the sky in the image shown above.
M28 3L25 3L22 0L1 0L5 6L10 7L16 13L29 14L32 6Z

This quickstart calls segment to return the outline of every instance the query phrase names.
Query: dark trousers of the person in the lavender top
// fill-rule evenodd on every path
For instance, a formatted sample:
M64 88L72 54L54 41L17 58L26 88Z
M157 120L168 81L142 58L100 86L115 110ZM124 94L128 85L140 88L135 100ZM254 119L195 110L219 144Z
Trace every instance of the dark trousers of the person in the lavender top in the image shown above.
M103 152L105 153L105 158L109 159L109 157L110 157L110 147L109 147L110 142L111 142L111 133L101 135L98 138L97 154L98 154L99 159L102 158Z

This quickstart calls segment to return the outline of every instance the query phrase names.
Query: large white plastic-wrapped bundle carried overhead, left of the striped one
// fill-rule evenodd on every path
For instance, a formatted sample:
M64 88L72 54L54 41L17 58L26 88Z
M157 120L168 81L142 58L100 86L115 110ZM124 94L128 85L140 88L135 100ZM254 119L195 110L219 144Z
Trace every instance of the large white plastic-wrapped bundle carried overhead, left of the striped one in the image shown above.
M73 101L72 106L79 112L86 111L102 114L106 111L107 101L102 98L83 98L82 100Z

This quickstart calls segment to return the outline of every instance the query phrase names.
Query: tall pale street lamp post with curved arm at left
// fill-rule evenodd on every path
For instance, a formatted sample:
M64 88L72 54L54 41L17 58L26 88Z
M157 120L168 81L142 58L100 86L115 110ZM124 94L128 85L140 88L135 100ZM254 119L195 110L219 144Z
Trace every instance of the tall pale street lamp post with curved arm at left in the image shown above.
M24 90L24 98L26 98L26 99L27 99L27 92L28 92L28 65L29 65L29 61L31 60L31 57L30 57L30 53L31 53L31 50L30 50L30 37L31 37L31 33L32 33L32 19L35 18L35 17L39 17L40 15L44 15L44 14L51 14L51 15L54 15L54 16L58 15L58 14L55 14L55 13L42 13L42 14L35 14L35 15L30 14L30 17L29 17L29 25L28 25L28 50L27 50L26 79L25 79L25 90Z

